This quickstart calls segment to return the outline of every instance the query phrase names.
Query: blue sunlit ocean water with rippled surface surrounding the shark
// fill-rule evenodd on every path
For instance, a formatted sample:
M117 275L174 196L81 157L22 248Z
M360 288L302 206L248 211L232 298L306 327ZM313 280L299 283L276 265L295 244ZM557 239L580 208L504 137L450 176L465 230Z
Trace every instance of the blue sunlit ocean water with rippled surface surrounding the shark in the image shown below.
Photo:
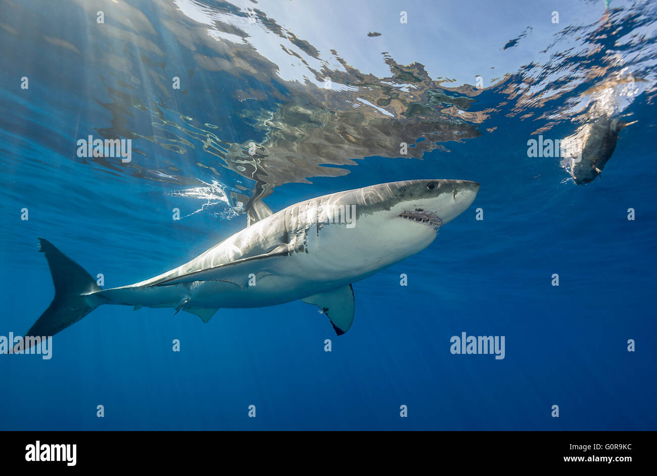
M0 335L22 335L53 298L37 237L109 288L244 228L231 191L278 211L407 179L481 188L428 248L353 284L346 334L301 301L207 324L101 306L53 337L50 359L0 355L1 429L657 429L654 2L480 11L467 28L494 54L464 32L450 47L463 64L436 50L442 33L413 37L431 2L340 4L365 19L357 32L289 2L57 4L0 4ZM528 140L600 114L635 121L600 179L577 185L558 158L528 157ZM131 162L80 158L89 135L131 139ZM399 138L424 149L400 156ZM453 355L462 332L505 336L505 358Z

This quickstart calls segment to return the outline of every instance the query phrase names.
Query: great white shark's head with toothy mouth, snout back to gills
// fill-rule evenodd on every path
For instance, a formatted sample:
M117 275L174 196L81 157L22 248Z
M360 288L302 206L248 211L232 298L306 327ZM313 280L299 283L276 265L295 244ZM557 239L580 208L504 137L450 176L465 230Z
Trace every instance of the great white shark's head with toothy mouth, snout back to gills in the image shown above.
M463 180L382 183L295 204L284 215L296 236L300 227L307 230L302 244L319 257L314 266L336 282L344 276L362 279L429 246L438 228L461 215L478 190L478 183ZM300 220L300 212L307 219ZM333 219L323 219L326 213ZM331 225L336 217L345 217L341 226Z

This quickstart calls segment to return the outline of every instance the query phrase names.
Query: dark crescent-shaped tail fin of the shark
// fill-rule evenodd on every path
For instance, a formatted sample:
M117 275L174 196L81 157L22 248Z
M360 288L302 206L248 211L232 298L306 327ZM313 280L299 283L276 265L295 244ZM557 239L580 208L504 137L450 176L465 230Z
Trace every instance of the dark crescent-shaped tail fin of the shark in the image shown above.
M88 272L55 248L48 240L39 238L39 244L41 245L40 251L45 253L50 272L53 275L55 299L24 337L55 335L68 326L72 326L102 304L101 300L87 295L102 290ZM24 341L26 343L34 342L34 339L24 339ZM22 343L18 343L17 346L22 346ZM12 349L12 351L15 350L16 347Z

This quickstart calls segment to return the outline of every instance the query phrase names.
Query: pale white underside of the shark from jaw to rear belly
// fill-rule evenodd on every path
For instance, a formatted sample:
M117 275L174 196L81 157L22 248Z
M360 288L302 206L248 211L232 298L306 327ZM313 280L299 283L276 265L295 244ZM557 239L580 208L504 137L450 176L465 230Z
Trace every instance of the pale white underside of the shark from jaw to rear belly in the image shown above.
M246 286L226 293L226 283L206 281L198 302L217 307L263 307L296 301L309 295L357 282L397 263L431 244L436 231L418 223L386 223L367 217L354 228L325 224L307 230L304 251L254 263ZM390 237L393 238L390 238ZM244 283L246 277L234 276ZM221 292L223 290L223 293Z

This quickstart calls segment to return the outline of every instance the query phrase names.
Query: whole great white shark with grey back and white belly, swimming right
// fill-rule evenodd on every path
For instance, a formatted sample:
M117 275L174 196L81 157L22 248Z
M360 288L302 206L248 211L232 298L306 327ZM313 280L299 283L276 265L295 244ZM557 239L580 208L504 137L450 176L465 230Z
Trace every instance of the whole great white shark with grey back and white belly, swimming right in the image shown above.
M412 180L325 195L277 213L256 202L246 228L188 263L106 290L39 238L55 298L26 337L55 335L103 304L172 308L208 322L221 307L297 299L317 305L336 334L344 334L353 322L351 283L429 246L438 228L461 215L478 190L470 181Z

